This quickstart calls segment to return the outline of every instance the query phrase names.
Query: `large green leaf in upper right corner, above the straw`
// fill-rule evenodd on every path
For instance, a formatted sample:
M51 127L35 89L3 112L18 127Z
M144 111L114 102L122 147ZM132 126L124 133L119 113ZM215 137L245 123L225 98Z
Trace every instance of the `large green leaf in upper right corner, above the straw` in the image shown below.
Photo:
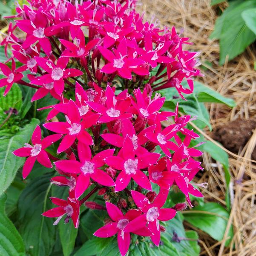
M255 0L247 0L229 12L223 20L220 35L220 60L223 65L228 55L232 60L256 40L256 35L246 26L241 13L256 6Z

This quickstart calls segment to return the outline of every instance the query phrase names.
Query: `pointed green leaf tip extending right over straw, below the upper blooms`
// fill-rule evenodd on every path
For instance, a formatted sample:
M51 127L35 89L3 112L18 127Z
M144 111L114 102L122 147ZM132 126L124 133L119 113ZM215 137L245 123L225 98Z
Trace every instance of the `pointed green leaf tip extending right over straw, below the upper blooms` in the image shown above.
M233 99L226 98L216 92L215 90L211 89L204 84L194 81L194 92L196 97L198 98L199 102L216 102L226 104L227 106L234 107L236 103Z

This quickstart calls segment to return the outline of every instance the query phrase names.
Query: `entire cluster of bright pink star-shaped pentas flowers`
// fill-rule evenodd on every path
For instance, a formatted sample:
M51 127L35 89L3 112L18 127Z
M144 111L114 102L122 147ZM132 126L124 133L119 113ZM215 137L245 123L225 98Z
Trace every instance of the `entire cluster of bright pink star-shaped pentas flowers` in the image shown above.
M111 220L95 236L117 233L121 255L129 249L130 233L158 245L164 230L159 221L172 219L177 210L162 208L170 188L178 186L191 206L190 194L202 196L191 183L202 169L193 159L201 152L190 147L198 137L186 128L191 118L179 117L178 106L175 112L161 111L165 98L157 93L170 87L181 98L192 93L192 78L200 75L198 54L183 49L189 39L174 28L144 23L135 0L28 2L17 6L19 19L2 42L6 54L12 48L12 65L0 63L6 76L0 87L6 86L6 95L13 83L30 86L36 89L32 101L50 93L58 104L42 108L49 109L43 129L51 135L42 139L37 126L32 144L14 151L28 157L23 178L35 161L51 168L54 160L58 175L51 182L68 187L69 197L52 197L58 207L44 216L57 217L54 224L66 216L65 222L71 218L78 227L81 204L98 191ZM163 128L168 119L172 124ZM48 150L53 143L54 155ZM160 187L157 196L152 185Z

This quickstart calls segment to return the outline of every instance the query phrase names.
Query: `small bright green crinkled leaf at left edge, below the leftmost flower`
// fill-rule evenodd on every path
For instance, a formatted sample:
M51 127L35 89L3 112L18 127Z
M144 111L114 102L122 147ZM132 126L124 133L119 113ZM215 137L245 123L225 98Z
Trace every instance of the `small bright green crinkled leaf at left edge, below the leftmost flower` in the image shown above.
M13 84L12 89L5 97L2 96L4 90L4 87L0 88L0 108L4 111L9 110L10 107L20 110L22 105L22 93L17 83Z

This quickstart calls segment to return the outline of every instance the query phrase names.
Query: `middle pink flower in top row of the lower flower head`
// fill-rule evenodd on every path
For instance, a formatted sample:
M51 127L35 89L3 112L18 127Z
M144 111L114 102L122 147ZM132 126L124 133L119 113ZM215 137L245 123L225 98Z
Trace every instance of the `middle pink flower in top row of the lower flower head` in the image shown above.
M132 118L132 114L125 113L131 104L129 97L118 100L110 86L106 87L106 106L97 102L86 102L95 112L101 114L99 123L108 123L114 120Z

